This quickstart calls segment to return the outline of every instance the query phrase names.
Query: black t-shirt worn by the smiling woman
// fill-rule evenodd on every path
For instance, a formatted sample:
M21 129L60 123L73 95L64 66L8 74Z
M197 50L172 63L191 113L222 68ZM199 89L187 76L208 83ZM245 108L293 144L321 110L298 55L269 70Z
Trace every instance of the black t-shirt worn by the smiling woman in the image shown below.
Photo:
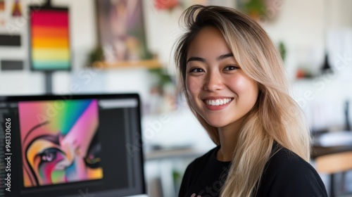
M280 148L279 148L280 147ZM179 197L219 196L231 162L216 159L220 146L213 148L187 167ZM279 148L279 151L274 151ZM325 197L327 191L315 169L287 148L275 144L265 165L256 197Z

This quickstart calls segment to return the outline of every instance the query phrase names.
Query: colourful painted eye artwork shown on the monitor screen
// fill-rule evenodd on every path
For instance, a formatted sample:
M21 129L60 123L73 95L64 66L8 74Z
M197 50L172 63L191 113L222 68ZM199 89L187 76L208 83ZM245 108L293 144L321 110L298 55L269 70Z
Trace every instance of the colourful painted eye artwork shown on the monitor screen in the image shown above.
M96 100L18 104L25 187L102 179Z

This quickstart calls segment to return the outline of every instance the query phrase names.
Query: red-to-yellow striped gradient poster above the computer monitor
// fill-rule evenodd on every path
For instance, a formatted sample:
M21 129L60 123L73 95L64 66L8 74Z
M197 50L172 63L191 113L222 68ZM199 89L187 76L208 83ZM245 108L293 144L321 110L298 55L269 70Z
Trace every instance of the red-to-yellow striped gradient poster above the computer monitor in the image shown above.
M30 14L32 70L70 70L68 9L31 9Z

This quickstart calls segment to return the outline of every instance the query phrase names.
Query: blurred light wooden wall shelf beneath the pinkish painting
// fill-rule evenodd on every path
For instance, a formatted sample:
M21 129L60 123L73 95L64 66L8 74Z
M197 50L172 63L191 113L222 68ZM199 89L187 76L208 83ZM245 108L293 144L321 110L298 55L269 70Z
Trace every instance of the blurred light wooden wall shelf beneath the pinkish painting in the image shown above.
M93 63L93 68L161 68L161 63L157 59L143 61L121 61L116 63L96 61L95 63Z

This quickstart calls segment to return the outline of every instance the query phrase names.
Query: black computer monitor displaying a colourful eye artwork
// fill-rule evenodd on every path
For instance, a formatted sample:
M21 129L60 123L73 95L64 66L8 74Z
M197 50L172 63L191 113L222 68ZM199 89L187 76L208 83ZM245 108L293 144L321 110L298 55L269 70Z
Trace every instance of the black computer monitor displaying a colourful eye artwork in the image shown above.
M146 196L138 94L0 96L0 196Z

